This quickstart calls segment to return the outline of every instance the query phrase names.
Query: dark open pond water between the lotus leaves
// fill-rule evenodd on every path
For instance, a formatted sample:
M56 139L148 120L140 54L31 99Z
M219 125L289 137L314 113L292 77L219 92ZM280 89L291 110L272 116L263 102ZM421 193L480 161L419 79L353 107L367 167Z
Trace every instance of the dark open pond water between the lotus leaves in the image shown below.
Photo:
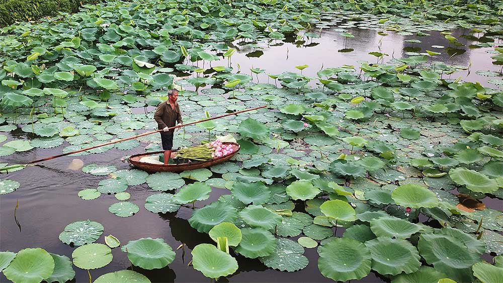
M403 57L406 46L412 46L405 43L404 40L413 39L410 36L388 35L380 36L373 30L350 29L355 38L348 40L346 48L353 48L353 52L342 53L338 50L345 48L344 37L340 32L323 30L322 38L309 40L303 44L294 42L272 42L269 46L262 44L263 50L240 49L232 56L232 63L235 66L239 63L243 73L249 73L249 68L259 67L266 69L267 73L278 74L284 71L295 71L296 65L308 64L309 67L303 70L308 76L316 76L316 72L323 67L338 67L343 64L355 65L359 67L359 61L367 60L375 62L376 58L369 55L368 52L378 51L379 40L382 39L381 52L389 54L385 62L392 57ZM487 83L487 77L475 73L476 70L493 70L499 68L491 64L490 56L487 51L490 48L469 49L465 52L449 59L449 55L444 49L432 49L431 45L448 46L447 40L438 32L429 32L430 37L418 38L422 41L420 44L414 44L414 47L420 47L420 52L435 50L442 52L437 60L454 65L468 66L472 63L471 72L460 71L451 75L452 78L462 76L468 81L480 81L484 86L494 87ZM453 36L460 39L466 46L473 43L471 40L459 37L463 31L453 31ZM275 45L275 46L273 46ZM307 46L306 46L307 45ZM239 48L239 45L236 44ZM259 52L260 51L260 52ZM261 55L261 53L263 54ZM260 56L259 56L260 55ZM250 57L258 56L258 57ZM214 62L213 65L225 65L226 60ZM253 75L254 81L257 81L256 75ZM261 82L267 81L266 74L259 74ZM273 82L270 79L270 82ZM182 105L183 108L183 105ZM153 114L151 114L153 116ZM24 134L16 135L18 138L26 137ZM117 200L113 195L102 195L96 200L84 201L77 196L78 191L85 188L96 188L98 182L107 176L94 176L83 173L80 168L77 170L68 169L68 165L73 159L77 158L83 161L84 165L92 163L115 165L118 170L127 169L129 165L120 161L124 155L139 153L144 151L146 143L139 147L121 151L112 149L102 154L91 154L77 157L65 156L54 160L43 162L41 166L31 166L24 170L9 174L2 174L2 179L9 178L19 181L21 187L14 193L0 197L0 250L17 252L27 247L42 247L49 252L66 255L71 258L71 253L75 249L59 241L58 235L63 228L74 221L90 219L101 223L105 227L103 236L112 234L116 236L122 244L128 241L136 240L142 237L163 238L167 244L176 249L181 243L185 243L185 256L182 257L183 250L177 250L177 256L173 263L162 269L141 270L133 267L134 270L145 274L152 282L194 282L210 281L203 274L192 266L187 266L192 256L190 251L194 246L200 243L212 243L212 240L206 235L198 233L190 227L187 219L190 217L192 208L182 207L177 213L154 214L144 209L145 198L158 192L151 190L146 184L138 186L129 186L127 192L131 194L131 202L140 207L140 211L127 218L120 218L108 211L108 208ZM175 145L177 147L177 145ZM23 163L34 159L39 159L61 153L61 148L57 149L33 149L25 153L16 153L11 156L2 157L0 162ZM225 189L214 188L210 199L204 202L198 202L196 207L215 201L221 194L229 194ZM14 208L19 202L19 208L16 213L16 219L21 227L18 227L14 218ZM484 202L490 203L488 207L499 209L503 204L500 200L486 198ZM499 207L499 208L498 208ZM338 230L338 235L343 229ZM294 238L296 239L296 238ZM101 237L98 242L103 243ZM94 279L98 276L125 269L130 267L126 253L120 248L113 249L113 261L103 268L91 270ZM242 256L236 256L239 264L238 271L220 281L234 282L324 282L332 281L323 277L317 267L316 249L306 249L305 256L309 258L309 265L297 272L281 272L265 267L259 260L250 260ZM86 270L74 266L77 282L87 282L88 274ZM375 273L370 273L362 279L362 282L376 282L389 279L377 277ZM7 281L6 277L0 275L0 281Z

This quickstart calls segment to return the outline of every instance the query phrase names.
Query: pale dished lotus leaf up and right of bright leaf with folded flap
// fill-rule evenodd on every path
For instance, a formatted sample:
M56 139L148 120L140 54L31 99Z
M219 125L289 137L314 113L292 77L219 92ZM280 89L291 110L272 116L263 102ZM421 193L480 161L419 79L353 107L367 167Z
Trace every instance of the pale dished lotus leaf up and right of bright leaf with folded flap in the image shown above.
M281 224L283 218L263 206L250 205L239 212L239 217L251 227L273 229Z

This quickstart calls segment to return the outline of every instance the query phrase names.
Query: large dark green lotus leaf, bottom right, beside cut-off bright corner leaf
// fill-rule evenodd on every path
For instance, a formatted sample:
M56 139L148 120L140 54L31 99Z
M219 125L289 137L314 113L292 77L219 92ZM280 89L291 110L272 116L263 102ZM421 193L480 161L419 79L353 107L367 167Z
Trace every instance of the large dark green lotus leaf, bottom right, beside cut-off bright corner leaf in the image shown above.
M417 244L421 256L435 269L458 282L473 281L471 266L480 261L475 251L447 235L422 234Z

